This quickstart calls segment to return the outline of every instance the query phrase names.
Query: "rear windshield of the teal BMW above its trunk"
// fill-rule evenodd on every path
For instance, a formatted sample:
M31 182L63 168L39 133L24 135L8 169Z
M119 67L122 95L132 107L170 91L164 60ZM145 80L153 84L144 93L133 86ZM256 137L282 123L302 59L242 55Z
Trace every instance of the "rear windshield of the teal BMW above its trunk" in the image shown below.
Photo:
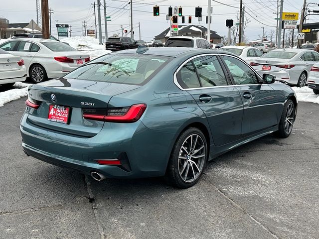
M143 54L108 54L72 71L65 78L144 85L171 59Z

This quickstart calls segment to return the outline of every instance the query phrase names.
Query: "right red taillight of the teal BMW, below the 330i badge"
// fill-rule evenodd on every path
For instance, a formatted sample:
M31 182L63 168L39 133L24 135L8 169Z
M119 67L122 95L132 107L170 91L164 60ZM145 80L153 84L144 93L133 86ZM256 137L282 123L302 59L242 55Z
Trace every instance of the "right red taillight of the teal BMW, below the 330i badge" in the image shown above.
M103 114L102 110L83 110L84 119L93 119L108 122L132 123L138 121L146 110L146 104L133 105L131 107L110 108Z

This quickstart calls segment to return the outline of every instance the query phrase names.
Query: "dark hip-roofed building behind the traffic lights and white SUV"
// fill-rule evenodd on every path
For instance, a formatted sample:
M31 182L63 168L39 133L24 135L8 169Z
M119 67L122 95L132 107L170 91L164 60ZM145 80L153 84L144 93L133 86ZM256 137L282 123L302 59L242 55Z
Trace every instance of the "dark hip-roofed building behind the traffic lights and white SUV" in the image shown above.
M176 35L176 34L175 34ZM200 25L178 25L178 36L196 36L207 38L207 28ZM155 36L155 40L165 42L169 37L169 27ZM210 31L210 41L214 44L221 43L222 37L216 34L216 31Z

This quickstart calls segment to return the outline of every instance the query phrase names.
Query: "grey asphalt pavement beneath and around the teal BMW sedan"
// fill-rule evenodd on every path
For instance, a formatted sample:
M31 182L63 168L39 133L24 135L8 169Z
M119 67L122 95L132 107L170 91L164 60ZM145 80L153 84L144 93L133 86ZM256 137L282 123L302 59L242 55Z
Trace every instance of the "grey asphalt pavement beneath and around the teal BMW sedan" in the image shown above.
M319 105L289 138L265 136L208 163L178 190L161 178L96 182L21 149L25 98L0 108L1 239L315 239Z

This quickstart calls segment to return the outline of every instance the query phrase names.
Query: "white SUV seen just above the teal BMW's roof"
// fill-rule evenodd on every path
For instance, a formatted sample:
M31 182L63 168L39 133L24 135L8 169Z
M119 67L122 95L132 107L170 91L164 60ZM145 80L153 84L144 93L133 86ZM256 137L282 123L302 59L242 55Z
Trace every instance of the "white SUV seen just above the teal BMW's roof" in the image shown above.
M191 36L171 36L165 42L165 47L193 47L211 49L204 38Z

